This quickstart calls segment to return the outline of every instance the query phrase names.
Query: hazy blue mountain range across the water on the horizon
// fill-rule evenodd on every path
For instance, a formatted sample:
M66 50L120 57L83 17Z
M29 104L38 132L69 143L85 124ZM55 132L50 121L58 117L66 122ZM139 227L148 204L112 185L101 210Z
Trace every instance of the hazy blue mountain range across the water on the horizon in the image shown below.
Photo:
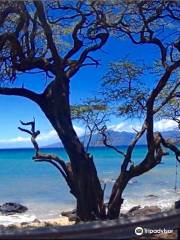
M107 131L109 142L114 146L128 145L135 136L135 133L132 132L116 132L116 131ZM177 138L180 137L179 131L164 131L162 132L162 136L165 139L172 139L173 141L177 141ZM88 142L88 135L80 137L80 141L84 143L84 145ZM144 135L137 143L137 145L146 145L146 136ZM104 146L102 143L102 136L100 134L95 134L92 137L90 146ZM61 143L53 143L48 146L48 148L56 148L62 147Z

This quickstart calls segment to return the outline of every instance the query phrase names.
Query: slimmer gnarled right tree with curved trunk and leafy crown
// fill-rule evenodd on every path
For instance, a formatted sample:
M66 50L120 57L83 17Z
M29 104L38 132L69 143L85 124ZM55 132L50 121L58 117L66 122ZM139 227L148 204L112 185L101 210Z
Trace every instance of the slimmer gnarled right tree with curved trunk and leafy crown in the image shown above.
M129 180L151 170L161 162L162 157L166 155L162 146L174 151L178 162L180 156L180 150L177 147L168 143L160 133L154 133L155 115L178 94L180 87L179 79L173 78L180 67L180 41L177 30L180 20L179 1L128 1L128 3L125 14L120 14L118 19L112 17L108 22L104 22L104 25L115 31L118 37L124 33L135 45L154 45L160 53L161 71L158 71L152 89L145 91L145 93L143 87L132 83L132 80L141 74L142 69L137 69L133 65L126 64L125 79L121 78L121 74L119 75L120 89L116 87L119 79L114 77L118 72L118 67L114 74L110 74L111 79L106 82L107 85L112 86L112 91L115 91L116 88L116 100L121 100L120 110L122 114L140 113L140 115L144 115L142 128L137 131L136 137L128 146L120 175L113 186L108 203L109 218L118 217L123 203L122 194ZM121 66L124 65L123 63ZM125 81L125 87L123 81ZM162 97L163 90L170 82L172 87L168 94ZM110 92L111 94L112 92ZM125 101L123 102L122 99ZM145 158L134 166L131 164L132 153L143 134L146 134L148 150Z

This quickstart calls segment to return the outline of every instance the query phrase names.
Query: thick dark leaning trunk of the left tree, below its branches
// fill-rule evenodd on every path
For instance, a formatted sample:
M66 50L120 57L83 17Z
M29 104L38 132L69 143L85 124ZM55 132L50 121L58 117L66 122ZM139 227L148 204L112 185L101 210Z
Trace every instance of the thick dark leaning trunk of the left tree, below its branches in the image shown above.
M69 104L69 80L55 79L45 90L40 106L56 130L69 156L78 217L83 221L104 218L104 193L93 158L85 152L73 129Z

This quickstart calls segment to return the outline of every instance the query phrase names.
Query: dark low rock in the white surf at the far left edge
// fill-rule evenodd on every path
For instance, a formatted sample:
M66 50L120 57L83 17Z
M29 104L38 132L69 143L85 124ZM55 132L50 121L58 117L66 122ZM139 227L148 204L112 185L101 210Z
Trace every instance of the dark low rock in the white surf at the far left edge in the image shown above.
M28 210L27 207L19 204L19 203L4 203L0 206L0 212L5 215L11 215L15 213L24 213Z

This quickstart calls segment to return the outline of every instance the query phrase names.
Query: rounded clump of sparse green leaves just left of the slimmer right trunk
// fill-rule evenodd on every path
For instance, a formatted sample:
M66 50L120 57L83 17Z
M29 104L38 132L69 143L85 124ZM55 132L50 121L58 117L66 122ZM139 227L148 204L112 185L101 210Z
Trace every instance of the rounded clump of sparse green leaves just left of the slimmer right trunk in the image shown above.
M107 102L115 105L117 115L130 118L143 116L149 95L149 88L141 79L143 74L143 67L127 60L110 64L102 79L102 94Z

